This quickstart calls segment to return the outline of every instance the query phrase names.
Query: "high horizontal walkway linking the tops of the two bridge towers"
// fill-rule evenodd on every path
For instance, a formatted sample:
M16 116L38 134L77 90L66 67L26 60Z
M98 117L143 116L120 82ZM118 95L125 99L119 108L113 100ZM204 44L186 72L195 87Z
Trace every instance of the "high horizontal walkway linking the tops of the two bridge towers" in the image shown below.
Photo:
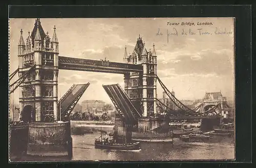
M96 71L100 73L125 74L129 72L140 73L141 65L110 62L108 60L89 60L72 57L58 57L58 68L66 70Z

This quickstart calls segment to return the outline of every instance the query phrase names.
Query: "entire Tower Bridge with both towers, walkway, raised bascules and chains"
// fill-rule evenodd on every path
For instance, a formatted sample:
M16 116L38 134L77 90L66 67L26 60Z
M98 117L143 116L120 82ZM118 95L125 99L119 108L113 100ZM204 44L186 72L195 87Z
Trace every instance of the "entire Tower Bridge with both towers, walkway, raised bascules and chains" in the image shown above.
M71 141L72 146L72 139L69 140L70 128L67 124L69 115L90 83L74 84L58 100L57 85L60 69L124 75L124 90L119 84L103 85L117 110L117 128L130 125L133 131L146 132L163 125L163 123L168 124L170 119L217 118L220 121L220 118L224 116L223 110L225 113L230 111L224 108L224 106L228 106L222 95L217 101L204 101L194 109L190 109L180 102L174 92L169 91L157 76L155 45L152 50L147 50L145 42L140 36L131 55L127 55L125 47L123 57L125 63L111 62L106 59L89 60L59 56L58 49L59 41L55 26L53 36L50 38L49 33L45 33L42 28L40 19L36 19L32 32L28 32L26 43L23 31L20 31L19 66L10 75L10 79L12 79L15 74L18 74L19 79L9 86L9 90L12 93L19 87L20 119L25 123L30 123L28 135L30 152L36 151L37 146L33 144L36 144L41 137L55 137L54 142L48 138L49 143L59 146L53 123L56 123L56 128L62 129L62 139ZM160 101L157 98L157 82L162 87L164 97L168 101ZM44 128L44 124L45 128L49 128L48 131L38 130ZM120 130L118 129L117 133L122 134ZM37 135L37 132L40 134ZM61 135L57 137L61 139ZM59 147L55 151L65 151L65 149Z

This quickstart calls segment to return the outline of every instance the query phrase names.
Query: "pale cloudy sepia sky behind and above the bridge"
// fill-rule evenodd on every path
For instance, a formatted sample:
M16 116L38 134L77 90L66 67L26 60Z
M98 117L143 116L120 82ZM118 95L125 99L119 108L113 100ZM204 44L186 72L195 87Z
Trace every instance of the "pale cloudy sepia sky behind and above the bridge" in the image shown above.
M155 44L157 75L169 90L175 91L176 98L202 99L205 92L221 90L227 100L234 99L233 18L40 18L40 21L51 38L56 26L59 56L123 62L125 46L127 53L132 53L140 36L147 51L153 50ZM167 25L167 22L179 25ZM182 22L194 25L184 26ZM198 25L205 22L212 25ZM12 73L18 67L20 29L23 29L26 43L35 18L11 18L9 23L9 70ZM224 31L228 33L218 33ZM10 83L17 79L16 75ZM124 86L123 75L60 69L58 96L65 94L73 84L87 82L91 84L79 102L102 100L110 103L102 84ZM159 83L157 85L157 97L161 98L163 90ZM18 97L16 89L10 99L18 103Z

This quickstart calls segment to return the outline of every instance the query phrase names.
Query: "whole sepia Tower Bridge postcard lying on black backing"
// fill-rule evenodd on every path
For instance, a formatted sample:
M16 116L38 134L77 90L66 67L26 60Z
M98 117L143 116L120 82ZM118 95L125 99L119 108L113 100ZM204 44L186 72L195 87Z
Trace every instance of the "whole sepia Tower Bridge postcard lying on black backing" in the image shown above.
M236 159L234 23L10 18L9 162Z

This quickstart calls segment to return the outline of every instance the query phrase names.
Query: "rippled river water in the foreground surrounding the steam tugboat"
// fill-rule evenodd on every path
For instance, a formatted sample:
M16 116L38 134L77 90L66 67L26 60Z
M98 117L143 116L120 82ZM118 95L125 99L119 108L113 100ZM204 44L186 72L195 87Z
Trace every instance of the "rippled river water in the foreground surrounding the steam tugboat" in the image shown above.
M119 161L157 161L157 160L195 160L195 159L234 159L233 137L216 137L208 143L183 142L174 138L168 142L141 142L140 151L116 151L94 148L94 139L100 133L72 135L72 160L119 160Z

